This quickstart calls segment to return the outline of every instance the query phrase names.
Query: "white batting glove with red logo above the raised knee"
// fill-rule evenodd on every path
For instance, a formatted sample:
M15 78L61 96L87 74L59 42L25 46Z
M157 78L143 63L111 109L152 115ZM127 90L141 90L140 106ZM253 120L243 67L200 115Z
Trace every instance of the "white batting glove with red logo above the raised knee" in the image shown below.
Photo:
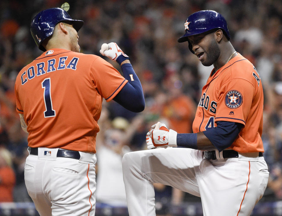
M157 124L152 125L151 129L148 132L148 136L150 139L147 139L146 136L146 142L148 148L151 147L150 141L152 141L152 144L154 147L162 147L167 148L168 146L171 147L177 147L176 143L176 137L177 132L172 129L167 129L167 126L163 123L160 123L159 129L156 127Z

